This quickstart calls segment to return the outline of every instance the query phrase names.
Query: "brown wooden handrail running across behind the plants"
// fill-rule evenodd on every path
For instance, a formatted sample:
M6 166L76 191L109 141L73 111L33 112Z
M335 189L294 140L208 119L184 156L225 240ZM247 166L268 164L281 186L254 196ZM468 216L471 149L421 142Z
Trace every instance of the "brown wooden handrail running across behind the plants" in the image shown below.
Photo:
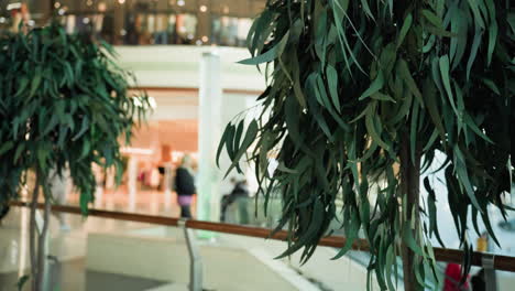
M12 206L20 206L20 207L30 207L30 204L26 202L12 202ZM37 208L43 208L43 204L37 204ZM81 211L79 207L75 206L64 206L64 205L53 205L53 212L61 212L61 213L69 213L69 214L77 214L81 215ZM89 209L88 216L94 217L101 217L101 218L110 218L123 222L135 222L135 223L145 223L145 224L153 224L153 225L164 225L164 226L179 226L179 218L166 217L166 216L156 216L156 215L145 215L145 214L135 214L135 213L124 213L124 212L111 212L111 211L101 211L101 209ZM249 237L258 237L258 238L270 238L270 239L277 239L277 240L286 240L288 234L287 231L281 230L271 235L271 229L262 228L262 227L250 227L250 226L241 226L241 225L231 225L231 224L221 224L221 223L211 223L211 222L201 222L201 220L194 220L188 219L185 222L185 226L191 229L199 229L199 230L209 230L216 233L223 233L223 234L231 234L231 235L241 235L241 236L249 236ZM333 247L333 248L341 248L344 246L347 239L340 236L329 236L325 237L320 240L319 246L325 247ZM352 245L353 250L361 250L361 251L369 251L369 244L364 239L357 239ZM447 249L447 248L434 248L435 250L435 258L437 261L443 262L462 262L463 259L463 251L458 249ZM474 252L472 255L471 263L473 266L482 266L482 258L484 255L483 252ZM489 255L490 257L491 255ZM515 257L508 256L495 256L494 260L494 268L495 270L501 271L511 271L515 272Z

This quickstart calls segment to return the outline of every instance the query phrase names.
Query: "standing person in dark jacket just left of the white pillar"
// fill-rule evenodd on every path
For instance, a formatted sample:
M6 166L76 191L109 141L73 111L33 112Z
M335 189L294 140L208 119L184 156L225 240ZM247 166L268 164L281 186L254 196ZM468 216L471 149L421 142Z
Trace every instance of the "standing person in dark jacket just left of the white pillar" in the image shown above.
M191 158L185 155L179 168L175 172L175 191L177 203L180 206L180 217L191 218L191 200L197 192L191 170Z

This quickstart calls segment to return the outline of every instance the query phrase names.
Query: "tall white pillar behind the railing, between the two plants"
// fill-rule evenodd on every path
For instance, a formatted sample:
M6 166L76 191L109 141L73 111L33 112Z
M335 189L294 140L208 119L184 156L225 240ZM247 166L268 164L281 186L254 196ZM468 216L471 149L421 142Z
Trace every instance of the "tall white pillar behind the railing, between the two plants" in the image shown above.
M220 211L220 174L216 154L221 128L221 66L220 56L204 53L200 64L197 218L218 220Z

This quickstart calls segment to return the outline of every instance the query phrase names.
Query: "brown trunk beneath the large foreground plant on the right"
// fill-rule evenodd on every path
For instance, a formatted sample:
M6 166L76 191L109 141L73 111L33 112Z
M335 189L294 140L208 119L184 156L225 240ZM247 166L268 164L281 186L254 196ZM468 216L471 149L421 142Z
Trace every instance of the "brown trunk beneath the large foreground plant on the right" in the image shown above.
M407 212L402 215L406 220L415 219L415 222L413 222L415 229L409 229L409 231L413 231L413 237L416 238L418 228L420 227L420 150L418 148L416 149L415 160L413 160L412 149L409 146L409 134L407 132L403 136L401 147L401 191L403 194L403 201L406 200L407 202ZM406 246L404 241L401 246L401 250L403 258L404 289L406 291L424 290L424 287L418 283L417 278L415 277L415 268L418 268L418 266L414 251Z

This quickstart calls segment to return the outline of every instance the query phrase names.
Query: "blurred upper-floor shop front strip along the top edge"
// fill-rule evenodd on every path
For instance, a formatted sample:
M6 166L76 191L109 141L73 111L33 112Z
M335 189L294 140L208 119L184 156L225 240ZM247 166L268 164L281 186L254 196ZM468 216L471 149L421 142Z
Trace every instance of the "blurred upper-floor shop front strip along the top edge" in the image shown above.
M0 0L0 29L43 25L59 15L69 33L116 45L244 46L264 0Z

